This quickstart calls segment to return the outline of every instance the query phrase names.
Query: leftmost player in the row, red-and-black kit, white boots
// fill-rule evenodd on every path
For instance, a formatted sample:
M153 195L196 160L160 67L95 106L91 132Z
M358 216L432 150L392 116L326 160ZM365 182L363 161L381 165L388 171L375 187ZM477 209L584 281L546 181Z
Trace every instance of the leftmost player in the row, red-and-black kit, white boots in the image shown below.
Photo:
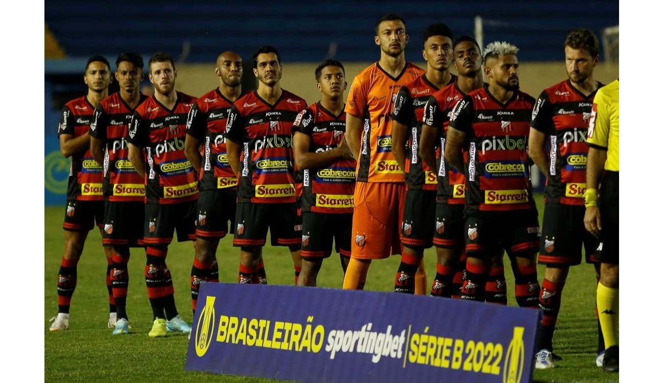
M64 105L58 127L60 151L64 157L71 157L71 169L67 185L67 206L64 214L64 252L58 271L58 315L49 331L69 329L69 308L76 289L76 266L83 253L88 232L95 223L102 230L104 217L104 195L102 194L102 166L90 155L90 123L94 108L108 97L111 84L111 66L102 56L88 59L83 81L88 86L88 94ZM116 306L110 282L112 252L106 253L106 287L109 300L108 327L116 325Z

